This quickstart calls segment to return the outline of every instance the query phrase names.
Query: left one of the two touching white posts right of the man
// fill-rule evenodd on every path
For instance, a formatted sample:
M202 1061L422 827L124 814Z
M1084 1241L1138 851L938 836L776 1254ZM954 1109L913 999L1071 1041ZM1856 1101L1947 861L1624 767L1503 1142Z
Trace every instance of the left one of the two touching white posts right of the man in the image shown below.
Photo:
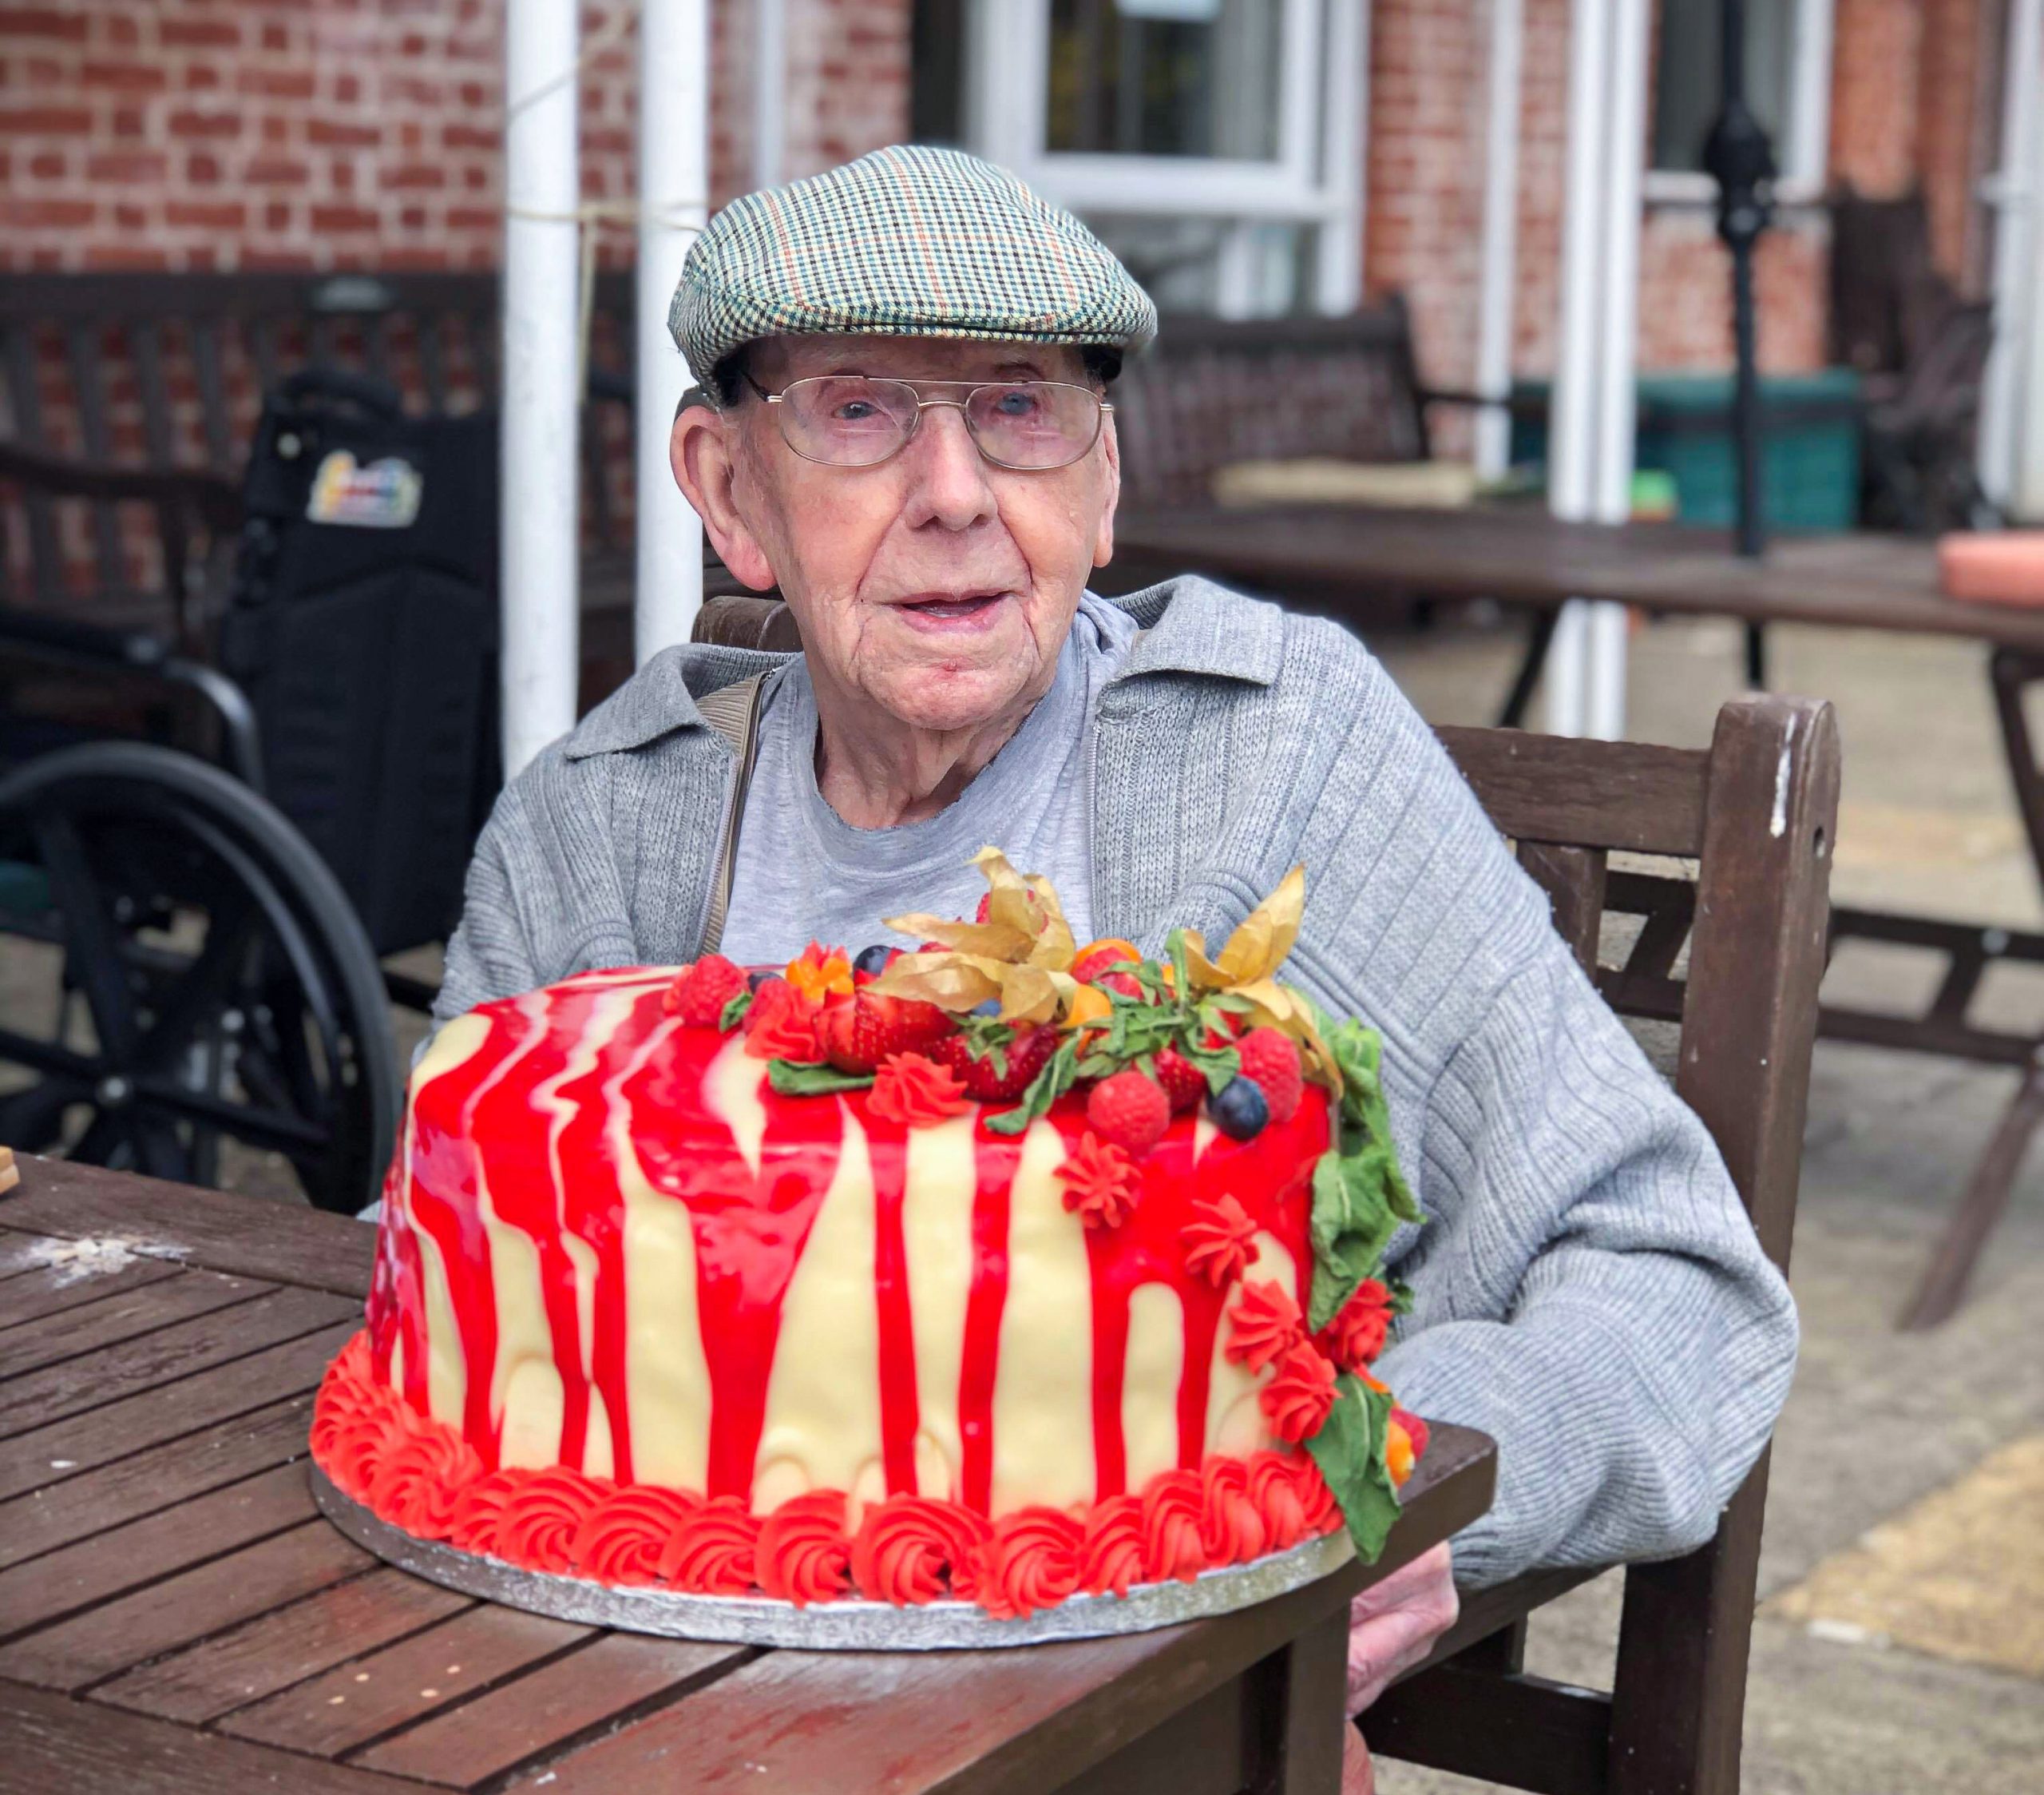
M1547 507L1590 517L1596 495L1596 325L1605 280L1600 188L1611 110L1611 0L1572 0L1568 14L1568 168L1562 213L1562 323L1547 407ZM1547 728L1580 736L1586 722L1588 615L1562 607L1547 650Z

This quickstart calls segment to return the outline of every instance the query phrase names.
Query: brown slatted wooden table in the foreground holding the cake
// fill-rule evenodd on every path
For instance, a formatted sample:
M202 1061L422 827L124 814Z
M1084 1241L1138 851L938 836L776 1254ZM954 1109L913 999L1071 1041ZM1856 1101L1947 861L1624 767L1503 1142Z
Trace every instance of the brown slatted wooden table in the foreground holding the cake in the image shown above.
M1437 1427L1384 1560L1014 1652L607 1633L378 1564L313 1509L362 1223L22 1159L0 1198L0 1791L1333 1791L1349 1597L1474 1521ZM139 1257L76 1276L53 1245Z

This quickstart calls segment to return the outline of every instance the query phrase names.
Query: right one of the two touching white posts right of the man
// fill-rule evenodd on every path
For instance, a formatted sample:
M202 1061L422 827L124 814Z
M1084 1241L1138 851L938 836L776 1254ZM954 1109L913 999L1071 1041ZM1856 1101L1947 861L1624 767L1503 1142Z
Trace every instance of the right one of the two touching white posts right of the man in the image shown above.
M1613 0L1611 106L1605 139L1602 311L1596 327L1596 491L1598 523L1623 523L1633 509L1633 431L1639 358L1639 176L1647 129L1647 4ZM1605 742L1625 734L1625 605L1590 607L1586 732Z

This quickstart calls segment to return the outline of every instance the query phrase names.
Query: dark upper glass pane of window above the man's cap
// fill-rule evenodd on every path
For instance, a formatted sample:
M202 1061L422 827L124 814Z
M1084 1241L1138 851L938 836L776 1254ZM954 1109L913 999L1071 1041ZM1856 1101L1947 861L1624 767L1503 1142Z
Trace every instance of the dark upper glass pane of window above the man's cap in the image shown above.
M1044 145L1278 159L1273 0L1051 0Z

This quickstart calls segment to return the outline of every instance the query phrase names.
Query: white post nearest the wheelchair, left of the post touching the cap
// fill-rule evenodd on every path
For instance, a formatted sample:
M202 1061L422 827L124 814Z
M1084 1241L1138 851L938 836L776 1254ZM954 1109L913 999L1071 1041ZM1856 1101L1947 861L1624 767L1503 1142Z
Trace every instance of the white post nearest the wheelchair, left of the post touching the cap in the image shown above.
M505 16L503 754L574 728L578 675L576 0Z

